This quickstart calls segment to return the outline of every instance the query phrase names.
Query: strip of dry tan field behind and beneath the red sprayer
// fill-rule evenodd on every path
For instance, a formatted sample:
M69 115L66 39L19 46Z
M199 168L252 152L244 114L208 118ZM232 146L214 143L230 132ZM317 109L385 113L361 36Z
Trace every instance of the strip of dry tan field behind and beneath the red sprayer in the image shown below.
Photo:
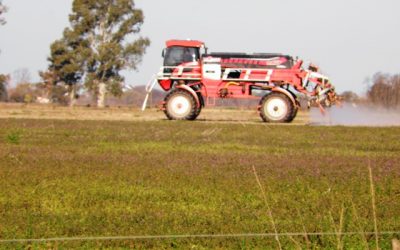
M26 118L26 119L52 119L52 120L107 120L107 121L160 121L166 117L157 108L147 109L141 112L139 108L132 107L112 107L98 109L92 107L63 107L46 106L35 104L6 104L0 103L1 118ZM237 108L215 108L203 109L197 121L212 123L245 123L261 124L261 118L257 108L237 109ZM296 120L292 124L309 123L306 113L299 112Z

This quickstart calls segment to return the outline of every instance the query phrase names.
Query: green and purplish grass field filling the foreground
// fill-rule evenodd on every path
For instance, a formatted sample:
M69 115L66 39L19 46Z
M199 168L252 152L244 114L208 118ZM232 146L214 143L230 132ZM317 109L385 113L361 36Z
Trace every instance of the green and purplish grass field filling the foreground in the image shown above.
M400 229L400 128L0 120L0 239ZM341 225L341 227L340 227ZM380 247L392 238L382 235ZM336 236L280 237L336 249ZM373 235L344 236L345 249ZM273 237L0 248L276 249Z

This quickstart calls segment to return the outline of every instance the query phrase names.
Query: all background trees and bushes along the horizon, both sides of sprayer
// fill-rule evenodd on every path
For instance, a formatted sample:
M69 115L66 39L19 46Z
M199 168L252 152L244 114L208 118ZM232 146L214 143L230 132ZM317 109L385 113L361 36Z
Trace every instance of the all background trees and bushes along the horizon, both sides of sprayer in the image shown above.
M6 24L7 10L0 0L0 26ZM23 79L8 94L10 76L0 74L0 101L29 101L40 95L74 105L79 93L86 90L98 107L104 107L107 94L122 94L121 71L137 69L150 45L148 38L139 35L143 23L144 14L133 0L74 0L69 26L50 45L48 68L39 72L42 81L31 84ZM351 91L343 92L342 97L349 102L360 99ZM400 74L375 74L366 97L375 105L399 107Z

